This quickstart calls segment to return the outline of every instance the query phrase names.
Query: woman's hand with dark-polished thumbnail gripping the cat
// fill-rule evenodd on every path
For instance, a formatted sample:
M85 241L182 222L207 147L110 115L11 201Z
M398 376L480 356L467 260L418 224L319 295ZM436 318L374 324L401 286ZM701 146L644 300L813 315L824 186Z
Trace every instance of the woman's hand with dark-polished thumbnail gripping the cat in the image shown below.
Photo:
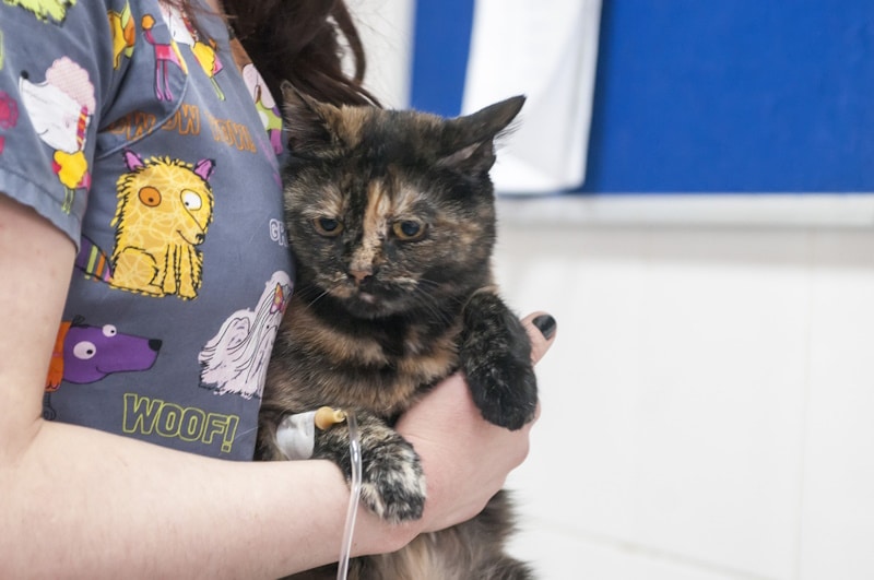
M536 363L552 346L555 320L543 312L522 320ZM422 458L427 481L418 532L432 532L476 516L528 455L529 433L540 415L510 431L486 422L456 374L440 382L398 422L398 431Z

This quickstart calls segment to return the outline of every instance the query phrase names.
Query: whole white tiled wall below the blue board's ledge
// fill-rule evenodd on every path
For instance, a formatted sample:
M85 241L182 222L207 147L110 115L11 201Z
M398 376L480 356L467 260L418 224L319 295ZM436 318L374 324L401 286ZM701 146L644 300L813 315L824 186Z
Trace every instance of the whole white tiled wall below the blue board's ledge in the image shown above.
M551 311L510 478L544 580L874 578L874 232L503 222Z

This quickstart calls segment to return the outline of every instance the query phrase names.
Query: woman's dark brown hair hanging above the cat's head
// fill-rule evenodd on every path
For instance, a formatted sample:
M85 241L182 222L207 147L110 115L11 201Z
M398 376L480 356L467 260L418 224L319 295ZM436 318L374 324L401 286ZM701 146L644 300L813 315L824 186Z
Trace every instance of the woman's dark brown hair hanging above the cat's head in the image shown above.
M319 100L375 103L362 86L364 47L343 0L224 0L228 21L274 95L282 81ZM343 56L354 72L343 71Z

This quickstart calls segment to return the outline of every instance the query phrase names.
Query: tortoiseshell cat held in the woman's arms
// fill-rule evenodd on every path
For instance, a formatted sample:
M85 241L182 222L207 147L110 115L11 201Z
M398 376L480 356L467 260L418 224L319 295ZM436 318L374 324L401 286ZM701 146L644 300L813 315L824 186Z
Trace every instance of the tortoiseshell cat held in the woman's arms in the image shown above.
M258 455L285 459L275 434L287 414L351 410L361 430L362 501L388 521L416 519L422 467L392 425L417 396L461 369L489 422L518 429L534 414L528 335L495 293L489 265L493 142L524 98L442 119L283 92L297 281L268 370ZM345 424L316 430L312 457L332 460L349 481L347 437ZM399 553L354 559L350 578L531 578L503 553L511 526L501 493L470 522ZM333 578L335 568L295 578Z

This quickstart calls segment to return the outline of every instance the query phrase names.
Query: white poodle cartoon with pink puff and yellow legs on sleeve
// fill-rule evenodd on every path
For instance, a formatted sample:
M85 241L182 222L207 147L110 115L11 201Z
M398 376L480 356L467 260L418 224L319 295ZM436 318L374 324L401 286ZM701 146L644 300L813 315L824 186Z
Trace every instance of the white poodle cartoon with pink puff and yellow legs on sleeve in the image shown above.
M94 85L85 69L62 57L51 63L40 83L22 71L19 92L39 139L55 150L52 169L64 188L62 209L69 213L75 190L91 187L84 150L96 108Z

